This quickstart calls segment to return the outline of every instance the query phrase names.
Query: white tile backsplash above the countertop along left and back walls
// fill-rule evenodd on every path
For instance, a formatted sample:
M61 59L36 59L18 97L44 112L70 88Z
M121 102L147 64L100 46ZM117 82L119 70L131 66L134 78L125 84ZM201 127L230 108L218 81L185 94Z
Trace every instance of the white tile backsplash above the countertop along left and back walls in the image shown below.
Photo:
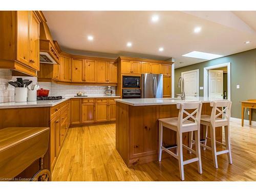
M0 103L14 101L14 87L8 84L9 81L16 81L12 76L11 70L0 69ZM30 79L33 83L37 82L36 77L23 77ZM53 82L39 82L40 88L50 90L49 95L53 96L74 96L77 92L86 92L87 95L104 95L107 86L72 86L66 84L57 84ZM115 87L111 87L115 95Z

